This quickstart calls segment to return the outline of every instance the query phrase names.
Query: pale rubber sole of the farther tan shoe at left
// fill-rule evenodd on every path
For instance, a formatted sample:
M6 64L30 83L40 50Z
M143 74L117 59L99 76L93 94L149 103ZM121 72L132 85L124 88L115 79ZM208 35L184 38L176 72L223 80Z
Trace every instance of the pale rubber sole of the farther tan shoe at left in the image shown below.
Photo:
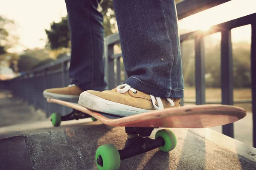
M66 102L77 103L79 100L79 96L66 95L66 94L55 94L55 93L50 93L48 91L44 91L43 95L45 98L48 98L48 99L58 99L58 100L66 101Z

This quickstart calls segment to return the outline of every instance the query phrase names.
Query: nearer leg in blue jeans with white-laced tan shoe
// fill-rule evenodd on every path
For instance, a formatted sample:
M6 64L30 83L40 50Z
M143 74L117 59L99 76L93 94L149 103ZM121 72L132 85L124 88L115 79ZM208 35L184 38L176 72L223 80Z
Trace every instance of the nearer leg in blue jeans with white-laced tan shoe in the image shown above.
M79 104L119 116L180 106L184 82L174 0L113 3L129 78L111 91L83 92Z

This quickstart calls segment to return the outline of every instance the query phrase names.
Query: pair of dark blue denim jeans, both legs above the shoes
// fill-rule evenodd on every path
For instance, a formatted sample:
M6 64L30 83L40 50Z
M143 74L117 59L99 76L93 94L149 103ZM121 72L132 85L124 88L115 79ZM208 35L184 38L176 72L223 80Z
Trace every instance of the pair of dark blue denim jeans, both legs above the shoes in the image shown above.
M69 2L70 1L70 2ZM84 90L104 87L102 14L97 0L66 0L72 52L70 77ZM113 0L131 87L182 98L184 81L174 0ZM88 86L90 85L90 86Z

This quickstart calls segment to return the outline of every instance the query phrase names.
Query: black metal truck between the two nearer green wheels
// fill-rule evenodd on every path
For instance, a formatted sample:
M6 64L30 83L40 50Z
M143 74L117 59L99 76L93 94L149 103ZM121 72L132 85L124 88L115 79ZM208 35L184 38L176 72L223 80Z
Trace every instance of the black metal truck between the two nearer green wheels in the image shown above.
M153 130L154 127L125 127L125 132L128 137L125 142L124 149L118 150L120 160L164 146L165 141L162 137L158 137L156 139L150 139L148 137L151 135ZM101 156L97 158L96 162L99 166L103 166L103 159Z

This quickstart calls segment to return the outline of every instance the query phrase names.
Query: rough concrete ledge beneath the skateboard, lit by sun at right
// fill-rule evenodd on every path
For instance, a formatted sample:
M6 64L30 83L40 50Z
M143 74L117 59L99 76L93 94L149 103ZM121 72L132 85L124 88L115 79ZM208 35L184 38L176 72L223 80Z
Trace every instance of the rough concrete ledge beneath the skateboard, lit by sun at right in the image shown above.
M155 149L125 159L121 161L120 170L253 170L256 167L256 148L248 147L211 129L172 130L177 136L177 147L174 150L163 153ZM124 127L109 127L100 122L16 134L22 134L20 137L26 142L17 145L21 150L27 149L29 155L30 163L26 161L24 167L31 164L35 170L96 170L96 149L107 143L122 149L126 140ZM15 138L0 139L1 148L12 148L9 143ZM6 139L9 142L3 142ZM18 149L16 152L18 153ZM8 155L1 158L0 164L10 163L11 157L12 155Z

